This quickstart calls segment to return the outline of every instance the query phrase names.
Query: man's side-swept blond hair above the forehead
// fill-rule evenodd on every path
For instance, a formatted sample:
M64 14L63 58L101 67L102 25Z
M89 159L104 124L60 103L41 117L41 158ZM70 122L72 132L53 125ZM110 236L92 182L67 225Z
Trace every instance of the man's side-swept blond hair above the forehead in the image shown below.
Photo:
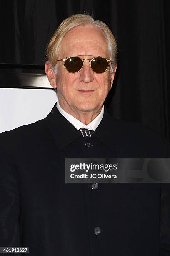
M85 25L94 26L102 30L107 40L108 50L110 52L112 64L113 66L115 66L117 58L117 44L115 37L112 34L112 31L110 30L110 28L107 27L107 25L104 22L100 20L94 20L92 16L87 14L75 14L66 18L62 21L60 26L53 34L50 43L47 45L46 48L47 59L53 66L57 64L57 56L60 50L62 38L65 36L65 34L70 29L75 28L76 26Z

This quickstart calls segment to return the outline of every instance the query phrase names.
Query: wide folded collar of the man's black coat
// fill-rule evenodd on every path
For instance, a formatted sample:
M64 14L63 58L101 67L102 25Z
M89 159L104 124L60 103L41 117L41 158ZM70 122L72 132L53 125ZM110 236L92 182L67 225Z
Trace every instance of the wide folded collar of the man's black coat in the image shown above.
M44 119L47 128L52 134L58 150L62 150L77 138L82 137L80 131L77 129L57 110L56 103L51 112ZM112 151L119 154L119 144L122 141L120 136L120 129L118 128L116 119L112 118L104 109L103 118L98 125L92 137L99 138Z

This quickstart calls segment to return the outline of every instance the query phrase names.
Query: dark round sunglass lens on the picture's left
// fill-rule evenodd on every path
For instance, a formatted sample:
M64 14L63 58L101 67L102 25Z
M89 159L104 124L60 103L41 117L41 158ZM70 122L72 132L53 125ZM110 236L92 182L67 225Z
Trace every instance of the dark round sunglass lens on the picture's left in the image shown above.
M65 61L65 67L71 73L78 72L82 68L82 60L79 57L70 57Z

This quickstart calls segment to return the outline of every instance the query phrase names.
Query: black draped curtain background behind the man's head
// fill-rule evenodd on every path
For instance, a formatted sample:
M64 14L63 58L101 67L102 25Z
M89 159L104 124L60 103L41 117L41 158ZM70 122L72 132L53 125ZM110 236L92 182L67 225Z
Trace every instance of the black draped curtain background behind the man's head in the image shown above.
M117 40L118 69L106 100L110 114L169 139L169 0L0 1L0 63L43 65L57 26L83 11L104 21Z

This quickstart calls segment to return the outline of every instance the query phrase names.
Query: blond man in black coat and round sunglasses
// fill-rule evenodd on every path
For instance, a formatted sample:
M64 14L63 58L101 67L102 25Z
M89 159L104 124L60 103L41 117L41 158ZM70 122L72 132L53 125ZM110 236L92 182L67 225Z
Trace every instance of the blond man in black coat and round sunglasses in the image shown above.
M103 107L116 72L111 31L70 16L47 58L57 104L0 136L0 246L28 246L31 256L170 255L169 184L65 184L65 158L169 156L167 141Z

